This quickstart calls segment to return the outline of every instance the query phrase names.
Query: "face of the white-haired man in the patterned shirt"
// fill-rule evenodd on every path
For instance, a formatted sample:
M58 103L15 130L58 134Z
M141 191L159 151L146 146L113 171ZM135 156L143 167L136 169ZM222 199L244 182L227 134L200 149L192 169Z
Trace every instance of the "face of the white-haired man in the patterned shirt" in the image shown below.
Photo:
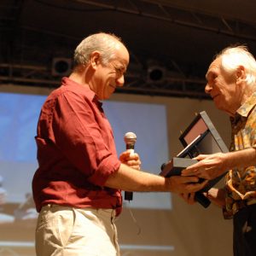
M241 105L241 86L236 86L236 74L228 74L220 68L220 59L212 61L207 71L206 93L216 108L234 115Z

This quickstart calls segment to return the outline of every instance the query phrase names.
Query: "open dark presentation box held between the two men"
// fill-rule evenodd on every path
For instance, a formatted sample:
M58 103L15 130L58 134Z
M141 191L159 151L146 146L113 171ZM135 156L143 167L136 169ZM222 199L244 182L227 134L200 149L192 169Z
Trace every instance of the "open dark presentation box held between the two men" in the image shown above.
M218 134L206 111L202 111L196 115L188 128L181 134L179 140L184 148L177 154L177 157L172 158L172 160L162 167L161 176L170 177L172 175L180 175L183 169L195 164L196 160L193 158L198 154L229 152L229 149ZM195 200L199 201L203 207L208 207L210 201L203 195L203 192L211 189L224 175L225 173L210 180L206 187L196 192Z

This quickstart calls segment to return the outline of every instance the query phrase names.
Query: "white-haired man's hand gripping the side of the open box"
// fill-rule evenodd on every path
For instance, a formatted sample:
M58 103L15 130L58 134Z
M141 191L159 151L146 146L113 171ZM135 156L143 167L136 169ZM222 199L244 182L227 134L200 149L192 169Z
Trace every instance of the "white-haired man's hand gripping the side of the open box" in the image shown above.
M184 169L182 176L196 176L210 180L227 171L224 153L200 154L195 159L199 162Z

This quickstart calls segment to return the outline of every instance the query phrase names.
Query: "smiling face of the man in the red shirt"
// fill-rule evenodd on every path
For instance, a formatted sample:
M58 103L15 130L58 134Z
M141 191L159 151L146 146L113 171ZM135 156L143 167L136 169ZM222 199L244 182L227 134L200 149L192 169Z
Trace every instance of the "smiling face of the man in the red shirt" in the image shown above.
M107 64L99 61L94 73L92 90L100 100L108 99L116 87L125 83L124 74L129 63L129 53L123 44L117 44L115 58Z

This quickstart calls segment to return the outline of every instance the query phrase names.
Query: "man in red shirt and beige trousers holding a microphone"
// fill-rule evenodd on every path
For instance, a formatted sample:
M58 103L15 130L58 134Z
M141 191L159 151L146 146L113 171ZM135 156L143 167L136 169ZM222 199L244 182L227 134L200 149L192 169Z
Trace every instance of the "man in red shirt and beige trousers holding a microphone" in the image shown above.
M193 192L197 177L138 172L138 154L116 154L102 102L123 86L129 53L112 34L85 38L74 69L44 102L36 142L38 170L32 181L39 213L36 251L49 255L119 255L114 218L126 191Z

